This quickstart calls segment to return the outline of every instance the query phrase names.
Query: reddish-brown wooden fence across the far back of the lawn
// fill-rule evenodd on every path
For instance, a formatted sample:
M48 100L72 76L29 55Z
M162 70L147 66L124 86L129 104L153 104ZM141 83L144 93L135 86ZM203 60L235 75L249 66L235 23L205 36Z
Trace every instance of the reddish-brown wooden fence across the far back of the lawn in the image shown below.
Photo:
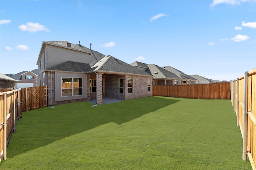
M153 96L192 99L230 99L230 82L190 85L155 85Z

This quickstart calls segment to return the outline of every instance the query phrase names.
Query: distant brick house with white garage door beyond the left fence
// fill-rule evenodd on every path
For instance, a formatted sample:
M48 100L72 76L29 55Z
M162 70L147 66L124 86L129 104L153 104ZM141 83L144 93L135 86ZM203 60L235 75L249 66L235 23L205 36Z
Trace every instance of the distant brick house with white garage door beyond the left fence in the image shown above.
M17 74L5 75L17 80L16 89L38 86L38 69L34 69L32 71L22 71Z

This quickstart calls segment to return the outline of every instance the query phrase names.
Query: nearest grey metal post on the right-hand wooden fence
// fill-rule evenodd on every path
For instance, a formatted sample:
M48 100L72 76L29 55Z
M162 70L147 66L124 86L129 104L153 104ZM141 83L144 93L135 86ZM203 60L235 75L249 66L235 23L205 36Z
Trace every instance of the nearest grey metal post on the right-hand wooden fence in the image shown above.
M247 118L248 118L248 71L244 72L244 127L243 127L243 160L247 161Z

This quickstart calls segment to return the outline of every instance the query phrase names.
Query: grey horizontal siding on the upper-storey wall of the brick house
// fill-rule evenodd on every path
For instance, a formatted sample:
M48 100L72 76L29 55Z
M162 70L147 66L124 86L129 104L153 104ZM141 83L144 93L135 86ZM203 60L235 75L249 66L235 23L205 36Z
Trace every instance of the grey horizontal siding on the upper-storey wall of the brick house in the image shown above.
M65 61L74 61L79 63L88 63L89 54L47 45L47 64L46 69Z

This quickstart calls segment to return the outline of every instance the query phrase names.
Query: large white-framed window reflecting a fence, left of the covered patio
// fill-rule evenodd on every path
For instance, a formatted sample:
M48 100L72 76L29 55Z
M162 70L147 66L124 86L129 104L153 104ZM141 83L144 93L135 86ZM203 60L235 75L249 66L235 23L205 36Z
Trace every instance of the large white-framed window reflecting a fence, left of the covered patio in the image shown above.
M82 95L82 78L62 77L61 96Z

